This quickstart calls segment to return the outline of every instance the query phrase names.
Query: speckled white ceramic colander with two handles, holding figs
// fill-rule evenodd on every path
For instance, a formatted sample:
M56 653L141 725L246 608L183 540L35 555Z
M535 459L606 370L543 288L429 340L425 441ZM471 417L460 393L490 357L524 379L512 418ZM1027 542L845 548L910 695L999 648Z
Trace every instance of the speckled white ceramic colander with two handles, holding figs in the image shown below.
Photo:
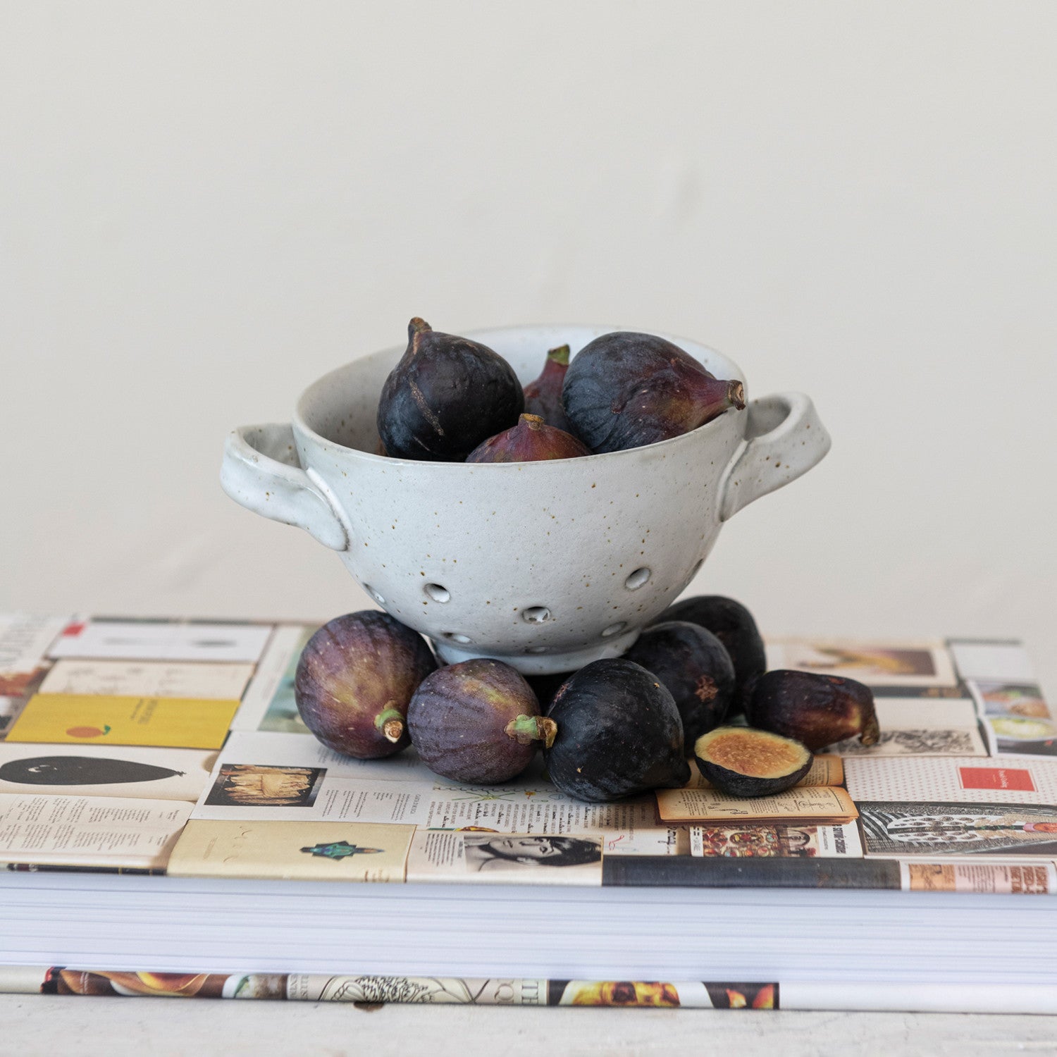
M525 384L548 349L568 344L575 355L617 329L465 336L498 352ZM717 377L745 381L712 349L661 336ZM605 455L390 459L375 453L375 414L403 353L384 349L326 374L290 425L235 430L221 483L248 509L337 551L360 587L449 664L490 656L541 674L619 656L690 582L724 521L830 447L809 397L778 393L681 437Z

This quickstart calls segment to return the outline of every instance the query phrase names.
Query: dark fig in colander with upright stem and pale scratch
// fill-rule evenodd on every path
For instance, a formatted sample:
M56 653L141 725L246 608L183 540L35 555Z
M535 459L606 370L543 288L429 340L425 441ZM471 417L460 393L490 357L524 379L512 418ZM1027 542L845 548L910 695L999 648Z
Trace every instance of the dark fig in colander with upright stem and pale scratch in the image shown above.
M394 459L462 462L523 408L521 383L502 356L415 317L407 351L382 387L378 435Z

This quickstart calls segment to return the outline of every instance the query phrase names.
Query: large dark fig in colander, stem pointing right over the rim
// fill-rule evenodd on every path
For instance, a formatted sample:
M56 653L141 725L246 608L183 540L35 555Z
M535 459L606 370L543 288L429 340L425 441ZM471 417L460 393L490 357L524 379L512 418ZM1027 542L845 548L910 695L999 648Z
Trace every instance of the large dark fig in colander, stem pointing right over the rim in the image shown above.
M745 407L740 382L724 382L678 346L616 331L586 345L569 365L561 404L592 451L623 451L687 433L728 408Z

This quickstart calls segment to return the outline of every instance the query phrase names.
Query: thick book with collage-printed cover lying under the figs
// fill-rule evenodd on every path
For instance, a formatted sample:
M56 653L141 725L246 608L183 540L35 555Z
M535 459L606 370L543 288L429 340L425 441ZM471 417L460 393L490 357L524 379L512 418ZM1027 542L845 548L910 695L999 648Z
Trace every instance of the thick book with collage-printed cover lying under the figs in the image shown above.
M327 749L315 627L0 616L0 990L1057 1012L1057 723L1018 643L771 641L869 685L879 743L590 804Z

